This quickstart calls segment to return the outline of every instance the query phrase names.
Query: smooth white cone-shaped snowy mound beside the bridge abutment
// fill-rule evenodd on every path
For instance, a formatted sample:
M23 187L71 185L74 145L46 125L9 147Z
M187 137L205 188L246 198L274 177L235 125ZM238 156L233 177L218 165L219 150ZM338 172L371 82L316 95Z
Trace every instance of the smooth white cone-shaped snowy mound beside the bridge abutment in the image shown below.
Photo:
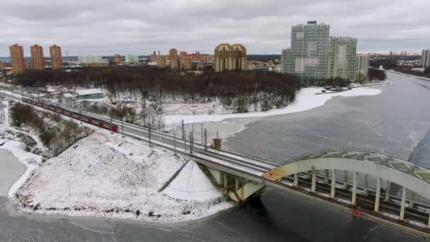
M182 168L163 193L180 200L205 201L222 197L222 193L194 161Z

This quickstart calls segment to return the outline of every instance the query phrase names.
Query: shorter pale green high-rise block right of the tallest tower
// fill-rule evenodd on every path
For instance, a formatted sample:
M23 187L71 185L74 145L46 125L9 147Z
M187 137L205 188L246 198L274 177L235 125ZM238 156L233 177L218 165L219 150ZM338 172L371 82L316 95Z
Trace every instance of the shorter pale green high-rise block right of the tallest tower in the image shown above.
M330 78L355 80L357 68L357 39L350 37L330 37L328 59Z

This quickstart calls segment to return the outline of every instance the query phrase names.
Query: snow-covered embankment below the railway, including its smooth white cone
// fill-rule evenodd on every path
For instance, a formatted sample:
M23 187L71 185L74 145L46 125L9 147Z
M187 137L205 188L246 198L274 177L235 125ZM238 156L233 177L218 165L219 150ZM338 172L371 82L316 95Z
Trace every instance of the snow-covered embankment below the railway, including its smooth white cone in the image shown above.
M194 161L158 192L185 161L170 151L99 130L33 167L26 173L30 179L23 178L25 185L16 192L21 181L9 195L16 207L31 214L159 223L201 219L234 206Z

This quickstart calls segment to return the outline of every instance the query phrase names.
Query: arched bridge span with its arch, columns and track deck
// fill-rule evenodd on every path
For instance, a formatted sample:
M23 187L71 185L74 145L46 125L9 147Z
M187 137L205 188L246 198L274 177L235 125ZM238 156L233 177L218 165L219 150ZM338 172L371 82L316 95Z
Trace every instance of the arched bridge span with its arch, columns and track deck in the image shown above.
M331 170L332 175L327 174L327 169ZM318 171L320 175L316 181L314 179L315 171ZM343 177L341 175L336 180L336 173L339 176L340 171L344 171L342 173ZM301 189L291 189L291 183L285 184L289 188L284 189L281 183L277 183L282 178L292 180L292 175L294 175L294 186L297 186L297 184L301 185L297 181L296 175L301 173L305 174L303 176L305 179L303 180L308 180L307 183L311 181L308 185L298 187ZM329 177L328 179L327 176ZM363 184L359 183L358 176L364 179ZM423 222L425 224L425 221L422 219L428 219L426 225L430 229L430 212L426 210L429 205L416 202L414 206L414 196L417 194L430 200L430 169L416 166L392 156L373 154L368 151L322 151L321 153L306 155L302 159L296 159L285 165L272 168L272 170L264 173L262 177L265 178L262 182L268 186L288 190L292 194L301 194L310 200L318 200L325 204L331 204L333 207L343 206L345 210L354 212L357 216L362 214L364 219L378 221L381 224L388 224L389 226L422 236L423 238L430 238L429 232L425 231L425 229L423 230L422 224L418 224ZM316 189L320 192L320 185L328 188L324 184L330 182L330 177L330 192L327 191L329 193L327 197L331 199L315 196L313 192L316 192ZM299 178L301 178L300 175ZM374 189L373 178L376 179L376 189ZM256 181L258 182L258 180ZM400 199L395 198L395 195L390 195L391 190L394 188L391 188L394 183L400 185L400 188L402 188L402 194L399 194ZM318 188L316 188L317 185ZM359 186L363 187L362 190ZM347 198L347 200L336 199L336 196L339 197L341 195L336 194L338 191L342 191L342 197ZM411 197L407 197L409 191L415 193L412 194L412 199ZM366 204L361 204L361 194L367 195L367 198L372 197L371 200L373 199L373 201L366 201ZM384 202L384 200L387 202ZM344 204L339 204L339 202L343 202ZM371 204L372 202L373 204ZM354 205L363 206L360 207L360 211L356 211ZM409 206L414 208L412 214L406 214L406 212L409 212ZM393 212L395 219L393 219ZM408 224L402 222L405 220L408 221Z

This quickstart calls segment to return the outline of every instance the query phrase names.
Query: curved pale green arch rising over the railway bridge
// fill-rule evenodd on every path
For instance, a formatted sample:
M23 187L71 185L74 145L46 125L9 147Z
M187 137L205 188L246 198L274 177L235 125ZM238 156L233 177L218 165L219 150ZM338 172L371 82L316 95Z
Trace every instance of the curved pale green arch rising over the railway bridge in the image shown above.
M294 159L263 174L270 180L312 170L343 170L397 183L430 200L430 171L375 151L323 151Z

